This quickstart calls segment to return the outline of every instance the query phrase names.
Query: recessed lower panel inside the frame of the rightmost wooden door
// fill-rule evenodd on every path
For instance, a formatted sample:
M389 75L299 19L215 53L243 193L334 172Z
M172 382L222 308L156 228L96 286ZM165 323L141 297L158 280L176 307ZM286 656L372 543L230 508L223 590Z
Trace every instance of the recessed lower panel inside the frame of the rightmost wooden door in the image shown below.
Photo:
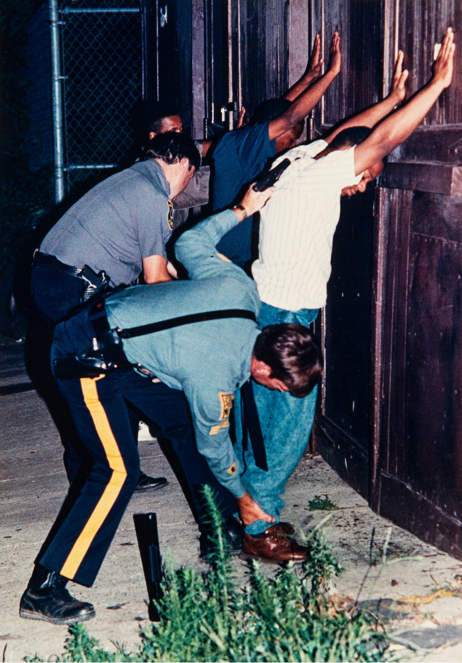
M447 235L454 237L461 232L462 201L454 198L414 194L408 276L406 456L400 477L460 519L462 245Z

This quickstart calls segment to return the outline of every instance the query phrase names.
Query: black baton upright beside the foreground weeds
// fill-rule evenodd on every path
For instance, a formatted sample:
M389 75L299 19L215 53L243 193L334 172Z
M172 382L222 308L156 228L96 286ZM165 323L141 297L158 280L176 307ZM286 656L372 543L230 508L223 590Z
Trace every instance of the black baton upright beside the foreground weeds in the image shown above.
M159 612L153 603L153 599L158 601L162 597L162 560L157 534L157 518L155 513L135 513L133 522L149 597L147 614L151 621L160 621Z

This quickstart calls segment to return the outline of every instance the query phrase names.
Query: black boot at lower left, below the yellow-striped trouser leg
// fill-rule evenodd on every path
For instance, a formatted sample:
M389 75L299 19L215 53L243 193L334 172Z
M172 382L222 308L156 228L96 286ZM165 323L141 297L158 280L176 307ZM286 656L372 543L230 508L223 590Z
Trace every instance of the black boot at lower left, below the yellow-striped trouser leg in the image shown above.
M68 579L37 564L19 604L19 617L52 624L74 624L95 616L91 603L78 601L66 589Z

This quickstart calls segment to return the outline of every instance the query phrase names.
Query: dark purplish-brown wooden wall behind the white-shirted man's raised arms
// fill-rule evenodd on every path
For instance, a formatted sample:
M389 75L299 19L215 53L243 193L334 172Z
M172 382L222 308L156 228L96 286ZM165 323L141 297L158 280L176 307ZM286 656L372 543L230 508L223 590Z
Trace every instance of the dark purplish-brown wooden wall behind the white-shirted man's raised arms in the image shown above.
M326 96L323 113L315 116L319 131L380 98L398 48L406 54L412 94L428 80L433 44L447 25L460 41L462 9L455 0L330 5L313 0L314 16L325 32L342 30L343 76L352 83L341 78ZM343 205L318 325L326 370L315 426L321 453L375 511L457 558L461 93L459 48L451 88L390 156L379 186Z

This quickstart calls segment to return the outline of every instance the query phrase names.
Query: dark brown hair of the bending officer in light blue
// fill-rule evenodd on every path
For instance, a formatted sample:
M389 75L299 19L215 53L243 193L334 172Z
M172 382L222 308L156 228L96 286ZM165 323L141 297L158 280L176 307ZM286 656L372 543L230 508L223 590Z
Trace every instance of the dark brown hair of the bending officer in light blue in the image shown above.
M317 385L324 367L316 337L303 325L285 323L264 327L254 345L254 355L271 369L292 396L305 398Z

